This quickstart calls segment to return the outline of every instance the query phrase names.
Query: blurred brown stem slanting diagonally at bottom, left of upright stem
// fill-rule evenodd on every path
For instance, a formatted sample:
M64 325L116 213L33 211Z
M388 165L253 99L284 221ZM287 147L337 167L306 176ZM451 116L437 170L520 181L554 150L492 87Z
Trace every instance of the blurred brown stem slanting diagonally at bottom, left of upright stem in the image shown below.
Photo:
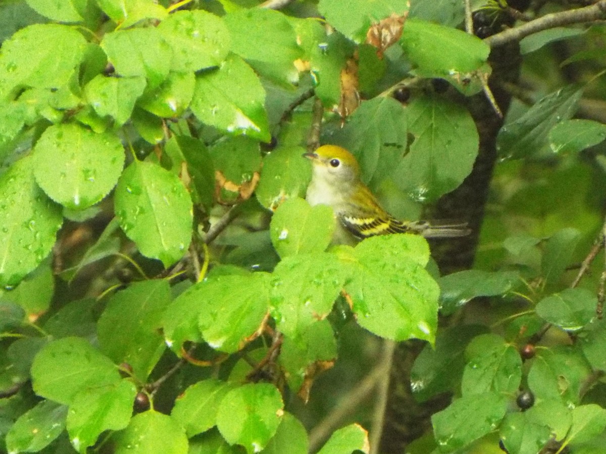
M335 431L344 419L355 412L359 404L364 401L381 383L385 375L385 365L377 364L375 368L353 387L340 400L333 411L328 413L309 434L309 452L316 452L321 443Z

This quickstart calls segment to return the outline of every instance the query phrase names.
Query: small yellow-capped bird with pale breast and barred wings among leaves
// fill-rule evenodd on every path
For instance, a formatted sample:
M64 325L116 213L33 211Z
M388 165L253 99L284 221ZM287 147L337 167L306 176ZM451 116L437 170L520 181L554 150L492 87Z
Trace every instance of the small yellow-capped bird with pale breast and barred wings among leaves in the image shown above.
M322 145L315 153L304 153L303 156L313 165L305 198L312 206L322 204L333 209L342 227L335 234L336 243L351 243L351 235L364 239L388 233L416 233L426 238L452 238L470 232L464 223L432 225L427 221L395 219L381 208L370 189L362 183L358 161L345 148Z

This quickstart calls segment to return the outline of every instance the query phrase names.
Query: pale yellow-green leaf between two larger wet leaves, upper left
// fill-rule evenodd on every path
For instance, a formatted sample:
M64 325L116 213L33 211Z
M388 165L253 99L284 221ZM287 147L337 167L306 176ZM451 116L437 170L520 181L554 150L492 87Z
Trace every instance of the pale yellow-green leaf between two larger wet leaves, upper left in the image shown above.
M106 33L101 47L116 73L124 77L145 77L150 88L159 87L170 71L172 51L158 28Z

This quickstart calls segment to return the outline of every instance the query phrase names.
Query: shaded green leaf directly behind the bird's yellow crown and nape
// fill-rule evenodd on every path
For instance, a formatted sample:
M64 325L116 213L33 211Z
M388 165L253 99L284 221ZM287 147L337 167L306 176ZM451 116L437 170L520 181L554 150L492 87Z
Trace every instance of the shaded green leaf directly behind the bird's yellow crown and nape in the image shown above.
M408 110L392 97L362 101L335 134L335 143L347 148L362 168L362 180L378 190L402 162L407 147Z

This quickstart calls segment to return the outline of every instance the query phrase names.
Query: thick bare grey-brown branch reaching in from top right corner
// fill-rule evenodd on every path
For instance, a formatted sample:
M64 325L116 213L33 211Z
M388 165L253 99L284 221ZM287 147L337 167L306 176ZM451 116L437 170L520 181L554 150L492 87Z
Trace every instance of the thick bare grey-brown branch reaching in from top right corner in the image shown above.
M551 13L534 21L527 22L519 27L509 28L493 36L488 36L484 42L491 48L499 47L513 41L520 41L526 36L533 35L539 31L549 28L561 27L562 25L581 24L584 22L598 21L606 18L606 0L600 0L594 5L576 10Z

